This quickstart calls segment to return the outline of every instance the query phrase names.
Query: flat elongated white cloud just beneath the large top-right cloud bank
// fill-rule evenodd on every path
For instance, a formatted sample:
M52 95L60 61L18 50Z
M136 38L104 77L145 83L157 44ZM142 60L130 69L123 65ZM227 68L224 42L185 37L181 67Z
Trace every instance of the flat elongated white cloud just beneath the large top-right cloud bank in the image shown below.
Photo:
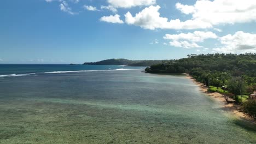
M218 36L213 32L195 31L193 33L166 34L164 39L189 40L193 42L203 42L205 39L216 39Z

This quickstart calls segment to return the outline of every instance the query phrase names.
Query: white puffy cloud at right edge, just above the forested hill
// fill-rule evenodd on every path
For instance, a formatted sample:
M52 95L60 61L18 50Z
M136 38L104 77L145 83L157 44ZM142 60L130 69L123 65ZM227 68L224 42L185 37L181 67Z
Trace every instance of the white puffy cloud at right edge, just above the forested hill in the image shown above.
M228 34L219 38L223 46L213 49L213 52L224 53L245 53L256 52L256 34L236 32L234 35Z

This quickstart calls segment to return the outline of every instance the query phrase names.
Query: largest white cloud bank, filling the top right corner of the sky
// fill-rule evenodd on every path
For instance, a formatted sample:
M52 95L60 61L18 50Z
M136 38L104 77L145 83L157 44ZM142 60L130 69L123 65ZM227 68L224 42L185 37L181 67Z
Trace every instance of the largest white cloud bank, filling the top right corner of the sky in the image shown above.
M234 24L256 21L256 1L252 0L203 0L194 5L176 4L176 8L191 19L181 21L168 20L161 17L160 6L151 5L135 16L128 12L126 23L140 26L144 29L204 29L220 24ZM215 28L221 32L220 29Z

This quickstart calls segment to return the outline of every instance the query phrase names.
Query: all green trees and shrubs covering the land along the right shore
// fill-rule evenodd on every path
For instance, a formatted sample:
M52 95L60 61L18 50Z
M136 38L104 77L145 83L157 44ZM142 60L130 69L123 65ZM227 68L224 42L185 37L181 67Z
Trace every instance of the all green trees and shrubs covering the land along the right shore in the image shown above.
M188 73L208 86L209 92L224 95L227 102L234 99L241 111L256 119L255 100L249 99L256 91L256 53L201 54L173 59L146 68L147 73Z

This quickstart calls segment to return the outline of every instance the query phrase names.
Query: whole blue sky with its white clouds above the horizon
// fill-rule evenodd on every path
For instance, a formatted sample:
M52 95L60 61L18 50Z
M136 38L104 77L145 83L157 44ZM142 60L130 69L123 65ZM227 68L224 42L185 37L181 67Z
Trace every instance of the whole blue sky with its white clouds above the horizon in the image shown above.
M0 63L256 52L256 1L6 0Z

